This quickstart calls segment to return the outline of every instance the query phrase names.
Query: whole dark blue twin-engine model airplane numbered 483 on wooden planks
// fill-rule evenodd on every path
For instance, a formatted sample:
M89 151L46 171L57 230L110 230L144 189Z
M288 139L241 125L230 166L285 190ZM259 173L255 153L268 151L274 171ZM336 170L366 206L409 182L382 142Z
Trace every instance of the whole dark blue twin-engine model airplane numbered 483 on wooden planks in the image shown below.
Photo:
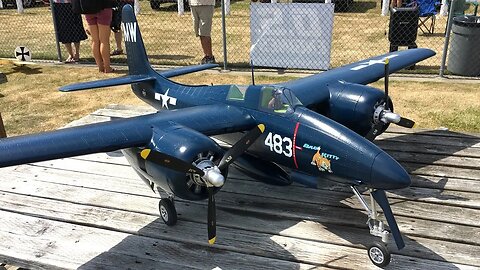
M208 240L216 239L215 199L233 162L251 176L277 185L316 188L332 180L351 187L368 212L368 248L377 266L390 262L389 234L405 244L386 190L406 188L403 167L371 141L390 123L412 127L393 112L388 89L366 84L434 55L412 49L373 57L275 85L191 86L168 78L215 67L199 65L157 73L148 62L132 7L123 9L129 75L62 87L76 91L131 84L158 113L57 131L0 139L0 167L121 149L140 178L168 194L160 215L174 225L174 197L208 199ZM386 87L388 83L385 84ZM211 137L232 145L220 147ZM358 189L369 191L371 204ZM376 202L376 203L375 203ZM389 230L379 220L383 210Z

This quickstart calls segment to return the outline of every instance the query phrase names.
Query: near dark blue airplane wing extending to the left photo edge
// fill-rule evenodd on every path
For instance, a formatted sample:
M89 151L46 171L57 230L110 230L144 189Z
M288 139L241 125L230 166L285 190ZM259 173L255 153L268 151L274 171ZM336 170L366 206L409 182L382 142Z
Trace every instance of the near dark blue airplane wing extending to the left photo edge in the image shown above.
M147 146L155 129L172 123L208 136L249 130L256 125L250 115L222 104L164 111L0 139L0 167Z

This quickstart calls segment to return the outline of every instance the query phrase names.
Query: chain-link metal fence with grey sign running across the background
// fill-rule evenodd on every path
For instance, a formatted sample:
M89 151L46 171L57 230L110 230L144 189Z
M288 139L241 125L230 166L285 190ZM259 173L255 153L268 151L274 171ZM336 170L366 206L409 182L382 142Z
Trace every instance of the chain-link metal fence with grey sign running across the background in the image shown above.
M476 15L477 2L455 0L450 5L450 13L457 16L453 19L446 16L449 14L447 0L443 0L444 3L416 0L395 8L391 8L388 0L333 0L334 13L325 8L331 6L333 11L332 4L319 4L318 0L266 1L272 0L227 2L224 29L222 5L217 3L212 28L217 62L226 60L228 67L246 67L253 58L254 64L259 61L260 66L327 69L396 49L423 47L434 50L437 55L420 63L415 72L438 73L445 58L447 67L443 71L446 73L450 72L448 66L454 66L452 72L460 75L480 73L479 17L461 17ZM58 11L57 16L62 15L61 11L37 3L18 14L14 5L8 3L15 1L2 2L0 57L11 58L15 47L21 45L30 49L33 59L59 60L52 11ZM184 5L185 12L180 15L175 0L139 1L138 22L152 63L190 65L199 63L203 57L193 32L188 4ZM451 42L445 47L448 18L452 18L453 29ZM86 27L85 20L84 25ZM93 62L89 44L88 41L81 43L80 61ZM115 49L114 44L112 35L111 50ZM60 45L59 49L61 60L65 60L68 55L65 47ZM450 55L447 57L447 54ZM266 63L259 59L266 59ZM281 62L282 59L291 61ZM125 55L112 56L111 60L112 63L125 62ZM319 62L326 66L319 66ZM468 72L463 70L464 66Z

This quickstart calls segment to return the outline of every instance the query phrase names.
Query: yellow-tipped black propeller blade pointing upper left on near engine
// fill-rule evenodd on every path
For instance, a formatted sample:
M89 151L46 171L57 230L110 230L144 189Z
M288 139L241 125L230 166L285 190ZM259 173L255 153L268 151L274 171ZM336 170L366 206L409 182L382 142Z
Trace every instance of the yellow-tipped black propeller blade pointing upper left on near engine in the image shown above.
M175 171L196 173L200 176L205 175L205 173L201 169L194 166L193 164L185 162L176 157L172 157L170 155L160 153L155 150L144 149L142 150L142 152L140 152L140 156L145 160L152 161L158 165L165 166Z

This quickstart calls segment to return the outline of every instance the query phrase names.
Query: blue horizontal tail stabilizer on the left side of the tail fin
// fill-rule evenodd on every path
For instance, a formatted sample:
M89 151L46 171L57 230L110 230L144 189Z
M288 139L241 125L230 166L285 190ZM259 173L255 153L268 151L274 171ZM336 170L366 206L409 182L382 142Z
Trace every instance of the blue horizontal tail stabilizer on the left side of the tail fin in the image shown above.
M155 80L156 79L153 76L128 75L120 78L112 78L112 79L106 79L106 80L70 84L70 85L60 87L60 91L72 92L72 91L87 90L87 89L94 89L94 88L101 88L101 87L155 81Z

